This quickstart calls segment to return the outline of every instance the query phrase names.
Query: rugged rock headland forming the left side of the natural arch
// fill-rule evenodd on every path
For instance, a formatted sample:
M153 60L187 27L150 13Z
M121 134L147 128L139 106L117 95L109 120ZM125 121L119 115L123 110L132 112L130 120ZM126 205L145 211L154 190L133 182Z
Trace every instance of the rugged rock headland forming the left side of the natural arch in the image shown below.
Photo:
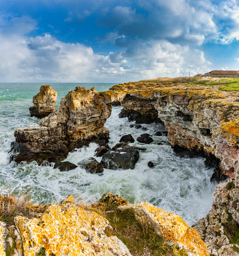
M18 163L58 162L65 159L69 151L90 142L104 140L105 144L109 130L104 123L111 114L111 104L118 102L121 94L76 87L62 98L57 111L40 121L40 125L15 131L11 159Z

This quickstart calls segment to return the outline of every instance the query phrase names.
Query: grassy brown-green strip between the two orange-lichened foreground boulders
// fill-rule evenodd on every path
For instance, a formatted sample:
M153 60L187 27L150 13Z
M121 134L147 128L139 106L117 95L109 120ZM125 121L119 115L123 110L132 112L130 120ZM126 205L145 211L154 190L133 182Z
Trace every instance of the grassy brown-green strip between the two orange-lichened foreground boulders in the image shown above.
M144 253L154 256L174 255L186 256L186 250L169 246L159 237L152 227L140 225L135 219L132 209L118 211L118 204L100 204L95 211L104 216L113 229L106 229L107 236L117 236L129 249L133 256Z

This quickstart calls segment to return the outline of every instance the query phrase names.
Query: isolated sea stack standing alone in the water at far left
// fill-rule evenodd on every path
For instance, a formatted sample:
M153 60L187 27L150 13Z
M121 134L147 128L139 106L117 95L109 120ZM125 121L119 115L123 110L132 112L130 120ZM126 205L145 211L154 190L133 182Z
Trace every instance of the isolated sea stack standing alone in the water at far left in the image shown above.
M33 96L33 106L29 108L31 116L43 118L55 111L57 92L50 85L42 85L40 92Z

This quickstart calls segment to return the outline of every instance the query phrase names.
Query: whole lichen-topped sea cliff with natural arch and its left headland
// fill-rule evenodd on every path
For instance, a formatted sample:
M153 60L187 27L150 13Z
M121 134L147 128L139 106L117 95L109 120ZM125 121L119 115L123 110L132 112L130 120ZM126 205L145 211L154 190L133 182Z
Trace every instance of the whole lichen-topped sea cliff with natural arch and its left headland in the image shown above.
M15 131L16 162L56 162L69 151L90 142L107 141L104 127L111 105L121 102L122 116L139 122L162 121L172 146L212 154L220 162L221 175L235 178L238 186L238 92L219 86L133 82L96 92L77 87L62 98L60 107L39 126ZM105 142L102 142L105 143Z

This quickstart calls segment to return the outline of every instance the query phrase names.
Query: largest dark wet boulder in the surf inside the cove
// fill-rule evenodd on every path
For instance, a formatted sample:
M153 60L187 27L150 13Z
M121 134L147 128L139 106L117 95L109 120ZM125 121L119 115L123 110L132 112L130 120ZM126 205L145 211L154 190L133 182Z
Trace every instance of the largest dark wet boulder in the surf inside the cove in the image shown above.
M116 170L118 168L134 169L136 162L139 159L139 152L133 147L124 146L122 149L109 151L105 153L101 160L101 165L104 168Z

